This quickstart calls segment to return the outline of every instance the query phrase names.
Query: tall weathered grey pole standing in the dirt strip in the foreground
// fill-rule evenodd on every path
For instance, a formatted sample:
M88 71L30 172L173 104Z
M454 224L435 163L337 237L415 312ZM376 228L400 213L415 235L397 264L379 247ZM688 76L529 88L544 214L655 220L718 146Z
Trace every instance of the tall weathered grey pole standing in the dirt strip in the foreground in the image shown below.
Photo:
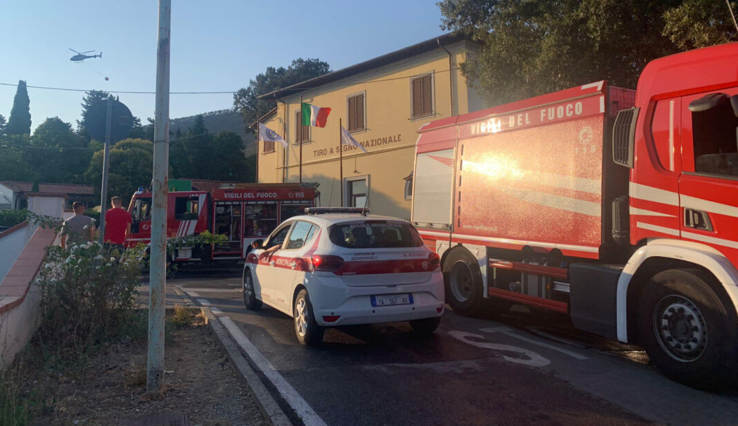
M171 0L159 0L154 111L154 206L151 214L151 270L148 297L146 390L164 384L164 310L167 285L167 195L169 172L169 47Z

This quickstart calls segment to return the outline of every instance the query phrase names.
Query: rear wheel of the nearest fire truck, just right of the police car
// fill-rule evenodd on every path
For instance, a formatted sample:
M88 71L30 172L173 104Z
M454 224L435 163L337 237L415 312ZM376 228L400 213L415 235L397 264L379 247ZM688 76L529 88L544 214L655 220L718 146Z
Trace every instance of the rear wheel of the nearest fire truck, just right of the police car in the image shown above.
M457 248L444 261L446 301L460 315L473 315L483 301L482 272L466 249Z

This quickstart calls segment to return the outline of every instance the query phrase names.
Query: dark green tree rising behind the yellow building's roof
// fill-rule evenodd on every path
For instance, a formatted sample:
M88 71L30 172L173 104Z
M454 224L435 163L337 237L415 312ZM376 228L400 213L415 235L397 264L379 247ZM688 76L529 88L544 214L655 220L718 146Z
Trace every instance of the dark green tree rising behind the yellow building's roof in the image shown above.
M246 127L277 105L276 99L257 99L257 97L285 88L289 85L310 80L331 72L331 66L320 59L297 58L287 68L270 66L233 95L233 107L244 117Z

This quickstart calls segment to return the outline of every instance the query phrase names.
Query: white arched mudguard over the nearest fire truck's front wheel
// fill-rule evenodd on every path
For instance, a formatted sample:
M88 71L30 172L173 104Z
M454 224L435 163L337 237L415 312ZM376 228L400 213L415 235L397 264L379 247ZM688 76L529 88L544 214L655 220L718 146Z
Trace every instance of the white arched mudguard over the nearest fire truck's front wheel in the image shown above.
M632 277L638 271L638 268L641 268L641 265L643 265L646 259L652 257L677 259L706 268L723 285L725 292L728 293L728 297L731 298L734 309L738 310L738 270L736 270L734 265L720 251L708 245L700 244L699 242L669 239L650 240L647 245L639 248L630 257L618 279L618 341L628 342L628 286Z

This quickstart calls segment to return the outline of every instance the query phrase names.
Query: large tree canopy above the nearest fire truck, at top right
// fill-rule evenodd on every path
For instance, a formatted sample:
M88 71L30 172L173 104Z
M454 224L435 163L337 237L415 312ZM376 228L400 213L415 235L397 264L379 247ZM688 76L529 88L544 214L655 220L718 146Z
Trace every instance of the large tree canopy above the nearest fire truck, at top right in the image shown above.
M635 88L650 60L738 39L727 5L711 0L442 0L438 6L444 29L480 43L461 70L493 105L596 80Z

